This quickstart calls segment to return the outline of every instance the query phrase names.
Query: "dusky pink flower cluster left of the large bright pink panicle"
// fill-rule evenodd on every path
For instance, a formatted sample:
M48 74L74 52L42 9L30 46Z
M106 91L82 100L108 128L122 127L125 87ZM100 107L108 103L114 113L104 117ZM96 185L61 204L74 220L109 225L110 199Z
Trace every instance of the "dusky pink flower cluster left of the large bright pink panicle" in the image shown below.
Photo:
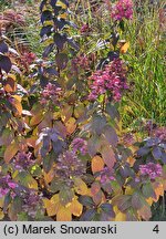
M43 92L42 92L42 97L41 97L41 104L48 104L48 103L53 103L53 104L58 104L60 101L60 96L62 95L62 89L58 87L54 84L49 83Z

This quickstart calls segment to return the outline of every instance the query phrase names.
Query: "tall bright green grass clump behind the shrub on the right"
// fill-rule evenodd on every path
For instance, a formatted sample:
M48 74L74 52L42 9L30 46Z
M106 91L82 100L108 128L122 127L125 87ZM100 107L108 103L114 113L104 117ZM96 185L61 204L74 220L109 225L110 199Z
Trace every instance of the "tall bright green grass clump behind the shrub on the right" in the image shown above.
M126 125L134 118L166 123L164 1L136 1L133 20L123 33L131 48L124 55L133 85L122 104ZM124 107L124 105L127 105Z

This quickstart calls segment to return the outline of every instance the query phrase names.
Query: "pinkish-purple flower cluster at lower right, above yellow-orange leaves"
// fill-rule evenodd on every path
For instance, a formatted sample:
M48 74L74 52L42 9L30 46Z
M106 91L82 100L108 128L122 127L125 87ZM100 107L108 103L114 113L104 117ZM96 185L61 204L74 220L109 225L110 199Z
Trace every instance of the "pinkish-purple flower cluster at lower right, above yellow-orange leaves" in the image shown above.
M159 164L148 163L139 165L141 175L148 176L151 179L162 176L162 166Z

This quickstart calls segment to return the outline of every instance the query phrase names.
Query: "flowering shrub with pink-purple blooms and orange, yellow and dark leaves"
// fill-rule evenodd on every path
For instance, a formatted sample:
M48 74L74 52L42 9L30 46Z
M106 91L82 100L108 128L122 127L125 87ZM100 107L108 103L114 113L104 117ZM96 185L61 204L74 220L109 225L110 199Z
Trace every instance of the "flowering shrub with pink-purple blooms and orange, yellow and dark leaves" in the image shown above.
M122 126L128 43L118 21L132 9L117 1L110 39L104 32L86 53L92 28L69 20L64 0L41 1L42 59L25 51L20 61L1 39L1 220L151 219L166 190L166 131Z

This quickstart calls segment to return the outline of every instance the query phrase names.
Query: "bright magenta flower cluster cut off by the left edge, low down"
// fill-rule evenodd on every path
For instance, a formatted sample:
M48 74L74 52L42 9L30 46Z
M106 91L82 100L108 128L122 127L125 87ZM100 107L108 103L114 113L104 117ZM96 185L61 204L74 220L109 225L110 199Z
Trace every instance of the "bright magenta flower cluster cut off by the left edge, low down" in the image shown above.
M1 185L1 187L0 187L0 198L6 196L9 191L11 193L12 197L15 196L13 189L15 187L18 187L18 184L14 183L11 179L10 175L0 177L0 185Z

